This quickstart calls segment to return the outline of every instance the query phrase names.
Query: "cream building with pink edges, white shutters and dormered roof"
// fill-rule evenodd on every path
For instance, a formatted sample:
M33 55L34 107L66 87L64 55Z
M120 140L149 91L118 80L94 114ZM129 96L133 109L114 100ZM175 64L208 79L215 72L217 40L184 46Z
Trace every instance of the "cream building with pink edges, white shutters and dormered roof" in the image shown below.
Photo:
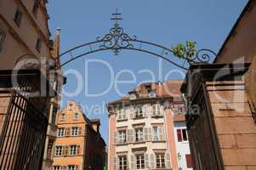
M180 83L143 83L122 99L107 105L108 169L179 168L178 141L176 143L174 133L174 95L180 98ZM184 121L184 115L182 117Z

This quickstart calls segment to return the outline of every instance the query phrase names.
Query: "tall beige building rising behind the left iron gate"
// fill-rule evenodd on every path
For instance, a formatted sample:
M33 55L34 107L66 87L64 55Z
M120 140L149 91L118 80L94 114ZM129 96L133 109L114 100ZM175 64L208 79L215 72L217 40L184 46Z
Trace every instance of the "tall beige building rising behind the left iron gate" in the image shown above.
M47 137L42 137L43 139L41 140L43 143L40 143L40 147L44 147L45 144L45 150L38 150L38 153L44 152L43 157L41 155L37 156L37 159L44 160L43 169L52 167L51 150L54 143L54 131L57 129L54 127L55 112L59 108L59 92L64 82L61 71L54 71L54 67L60 65L60 60L57 59L60 50L60 30L57 32L55 41L50 40L50 32L48 30L49 17L46 9L47 3L48 1L46 0L0 1L0 70L8 70L11 74L12 70L39 69L40 74L48 79L51 88L54 88L58 94L56 97L48 99L46 106L44 106L48 112L46 118L49 124L47 132L42 132L47 133ZM28 72L37 75L37 71L24 71L22 76L26 75ZM6 81L7 80L8 78ZM38 80L38 82L40 82L40 80ZM11 89L11 86L9 89ZM3 89L3 93L6 93L6 89ZM2 99L9 101L7 103L11 105L12 102L9 100L9 96L12 92L9 93L6 98ZM42 93L42 95L44 94ZM52 97L54 95L55 94L52 94ZM23 104L24 102L19 103L20 106ZM5 108L6 104L2 106ZM4 117L8 116L10 114L9 112L11 111L3 109L3 116L1 118L3 124L5 121ZM9 132L7 131L5 133ZM32 150L35 150L35 148L37 147L35 146ZM3 150L1 150L1 154L3 154L2 151ZM26 157L26 154L24 157ZM28 160L35 161L31 158ZM3 163L3 160L1 162L2 165L7 166L7 164ZM21 162L20 166L22 167ZM42 161L40 161L37 166L42 166Z

